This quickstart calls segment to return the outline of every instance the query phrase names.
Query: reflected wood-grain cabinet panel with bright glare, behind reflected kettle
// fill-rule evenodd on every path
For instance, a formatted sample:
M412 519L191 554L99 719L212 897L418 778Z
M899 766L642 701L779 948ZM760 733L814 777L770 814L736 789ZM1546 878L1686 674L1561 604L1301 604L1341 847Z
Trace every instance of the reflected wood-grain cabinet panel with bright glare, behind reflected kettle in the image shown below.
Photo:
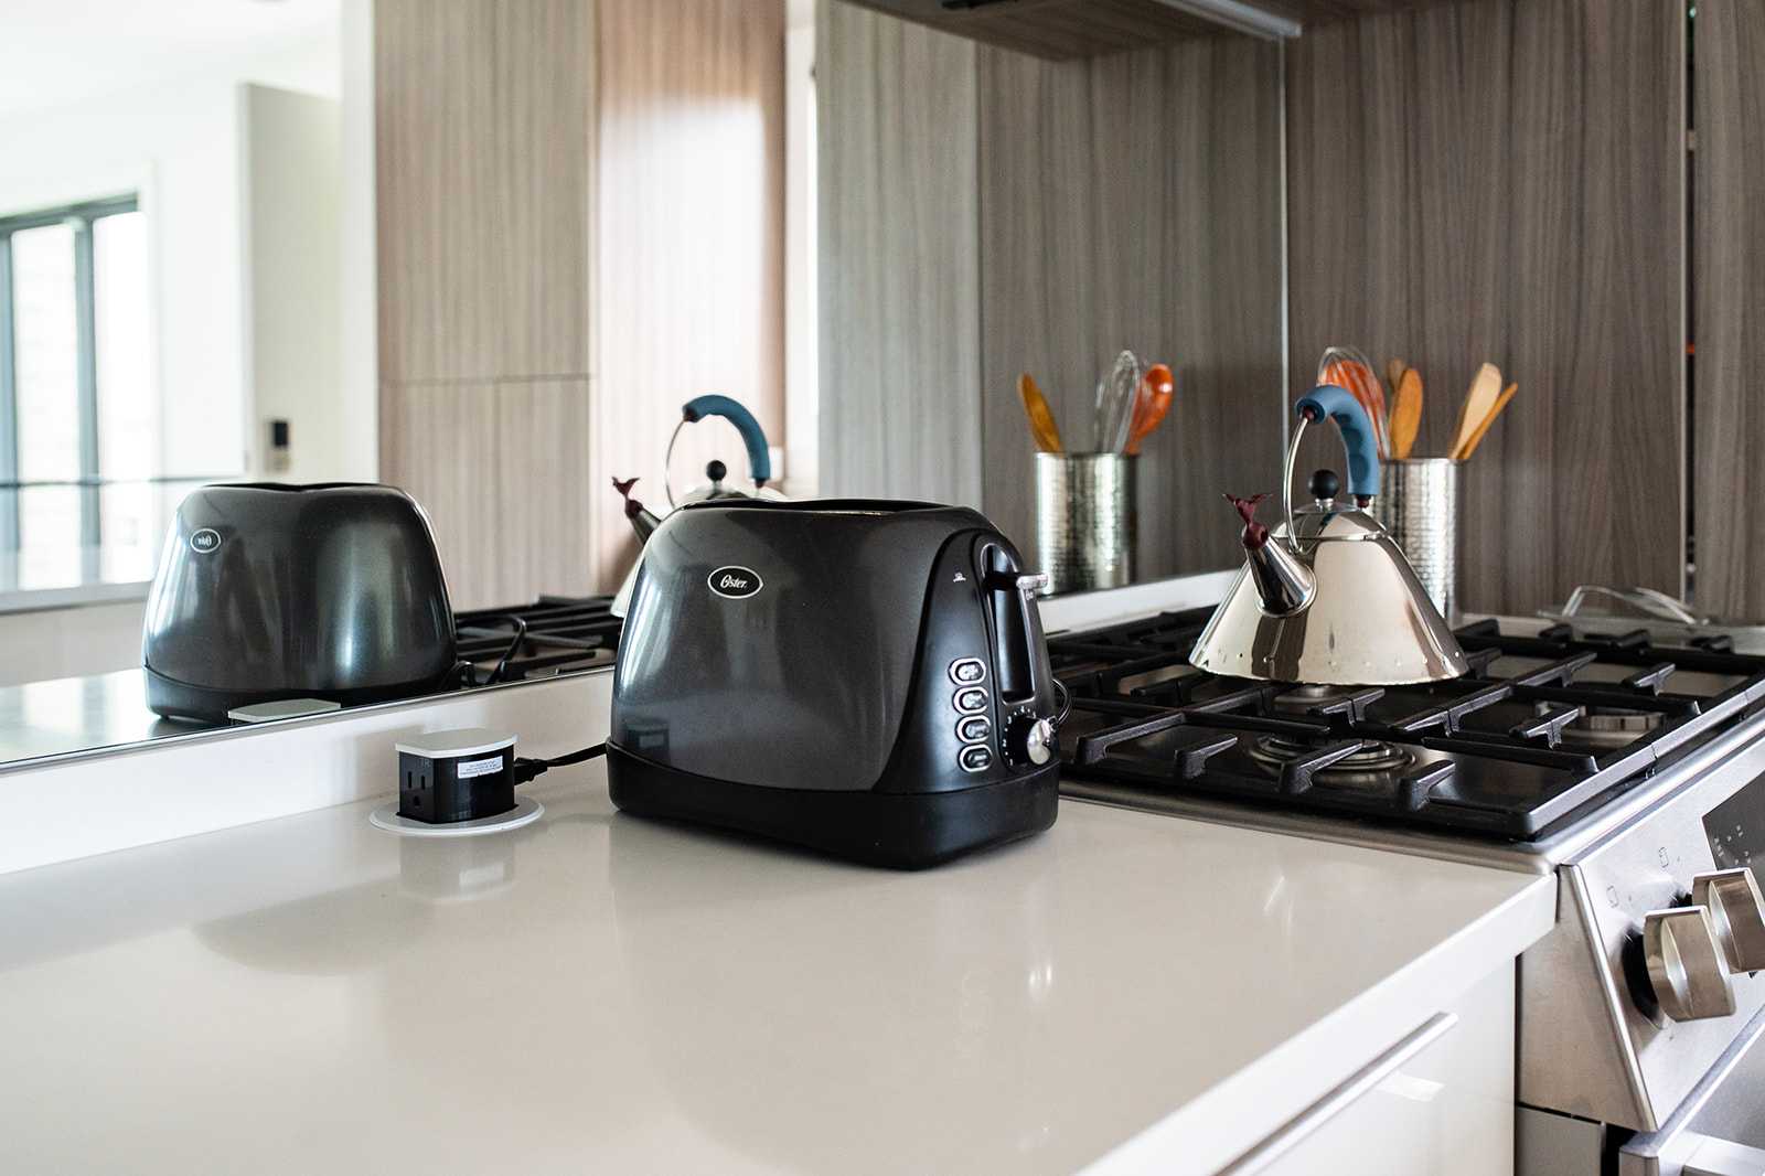
M658 510L680 408L740 401L784 445L784 5L600 0L595 484L600 586L637 556L611 477ZM681 433L674 486L747 475L732 427Z

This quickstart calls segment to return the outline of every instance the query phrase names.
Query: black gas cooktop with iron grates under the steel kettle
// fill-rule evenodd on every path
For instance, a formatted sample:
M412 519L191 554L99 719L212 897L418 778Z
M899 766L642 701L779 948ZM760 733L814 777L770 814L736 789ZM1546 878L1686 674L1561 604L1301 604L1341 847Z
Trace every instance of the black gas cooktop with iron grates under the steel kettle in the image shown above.
M1191 666L1209 614L1048 639L1073 699L1066 791L1093 780L1126 803L1188 795L1528 842L1765 706L1765 657L1721 636L1484 620L1458 630L1463 678L1310 687Z

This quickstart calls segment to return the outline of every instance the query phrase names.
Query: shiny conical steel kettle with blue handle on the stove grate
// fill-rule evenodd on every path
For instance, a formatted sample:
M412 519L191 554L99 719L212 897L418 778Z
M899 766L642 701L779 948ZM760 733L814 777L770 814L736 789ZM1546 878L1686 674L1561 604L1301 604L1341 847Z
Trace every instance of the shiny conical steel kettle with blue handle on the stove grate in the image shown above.
M1366 410L1334 385L1296 404L1273 531L1257 523L1266 498L1227 498L1244 521L1244 569L1207 622L1190 660L1216 675L1320 685L1401 685L1470 669L1410 562L1368 512L1378 494L1378 447ZM1311 477L1313 503L1294 510L1294 459L1308 424L1329 417L1348 450L1352 505L1331 470Z

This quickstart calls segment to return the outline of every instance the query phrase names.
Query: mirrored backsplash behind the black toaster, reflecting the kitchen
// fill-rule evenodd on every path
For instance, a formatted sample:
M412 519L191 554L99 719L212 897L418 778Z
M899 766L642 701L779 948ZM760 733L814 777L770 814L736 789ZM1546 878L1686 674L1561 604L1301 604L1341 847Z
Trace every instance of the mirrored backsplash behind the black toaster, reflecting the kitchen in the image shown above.
M0 87L0 763L203 729L148 708L139 611L212 482L406 489L445 689L609 664L632 521L761 482L978 507L1055 593L1237 562L1218 493L1283 434L1273 42L595 11L256 5Z

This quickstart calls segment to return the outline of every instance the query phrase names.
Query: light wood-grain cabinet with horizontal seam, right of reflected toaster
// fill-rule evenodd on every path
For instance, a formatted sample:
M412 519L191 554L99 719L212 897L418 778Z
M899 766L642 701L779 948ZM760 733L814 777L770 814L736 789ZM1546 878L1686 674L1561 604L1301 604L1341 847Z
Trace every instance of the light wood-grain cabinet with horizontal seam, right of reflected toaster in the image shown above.
M381 479L455 607L588 592L584 0L374 5Z

